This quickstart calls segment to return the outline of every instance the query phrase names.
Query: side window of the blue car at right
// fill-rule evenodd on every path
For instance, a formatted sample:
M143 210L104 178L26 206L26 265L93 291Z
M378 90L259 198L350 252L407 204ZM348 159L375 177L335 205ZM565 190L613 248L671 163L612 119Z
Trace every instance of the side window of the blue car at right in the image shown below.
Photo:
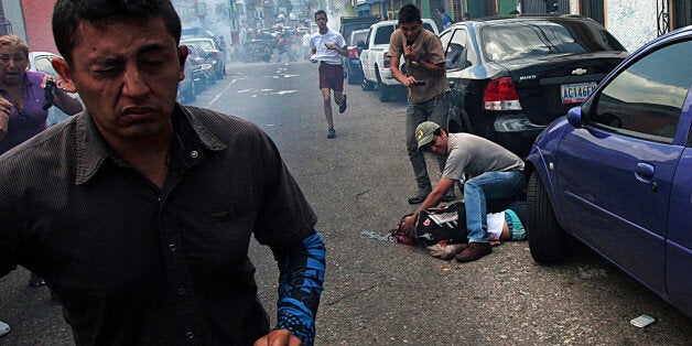
M655 51L613 78L590 122L607 130L672 143L690 89L692 41Z

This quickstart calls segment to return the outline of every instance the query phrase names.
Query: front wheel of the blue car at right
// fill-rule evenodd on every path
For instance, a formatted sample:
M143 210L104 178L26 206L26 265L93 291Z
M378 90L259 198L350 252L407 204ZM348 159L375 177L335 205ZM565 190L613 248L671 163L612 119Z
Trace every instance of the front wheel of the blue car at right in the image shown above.
M538 172L531 173L527 187L527 234L534 261L541 264L566 260L569 235L558 224L548 191Z

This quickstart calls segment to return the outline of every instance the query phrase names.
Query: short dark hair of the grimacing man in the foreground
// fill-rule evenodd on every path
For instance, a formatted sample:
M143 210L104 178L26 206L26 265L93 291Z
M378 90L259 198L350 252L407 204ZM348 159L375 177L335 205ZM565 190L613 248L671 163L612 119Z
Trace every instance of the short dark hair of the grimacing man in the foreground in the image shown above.
M161 18L169 33L181 41L181 19L170 0L57 0L53 9L53 39L57 51L72 62L80 22L101 26L108 21L142 23Z

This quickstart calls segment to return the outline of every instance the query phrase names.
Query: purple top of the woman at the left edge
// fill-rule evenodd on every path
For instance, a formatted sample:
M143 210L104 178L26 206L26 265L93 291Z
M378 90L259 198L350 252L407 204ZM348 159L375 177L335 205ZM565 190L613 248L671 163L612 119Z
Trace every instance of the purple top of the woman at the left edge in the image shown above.
M0 140L0 154L45 130L48 111L43 109L46 102L45 91L41 87L43 76L44 74L40 72L25 72L22 85L23 106L22 109L12 107L8 134ZM2 87L0 87L0 95L14 104L8 90Z

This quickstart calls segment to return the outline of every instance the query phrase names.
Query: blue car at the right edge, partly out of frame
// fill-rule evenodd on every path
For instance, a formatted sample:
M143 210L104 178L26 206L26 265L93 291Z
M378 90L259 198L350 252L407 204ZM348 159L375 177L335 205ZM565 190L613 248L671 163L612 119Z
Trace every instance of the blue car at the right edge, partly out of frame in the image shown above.
M529 248L566 259L574 237L692 316L692 26L648 43L528 158Z

